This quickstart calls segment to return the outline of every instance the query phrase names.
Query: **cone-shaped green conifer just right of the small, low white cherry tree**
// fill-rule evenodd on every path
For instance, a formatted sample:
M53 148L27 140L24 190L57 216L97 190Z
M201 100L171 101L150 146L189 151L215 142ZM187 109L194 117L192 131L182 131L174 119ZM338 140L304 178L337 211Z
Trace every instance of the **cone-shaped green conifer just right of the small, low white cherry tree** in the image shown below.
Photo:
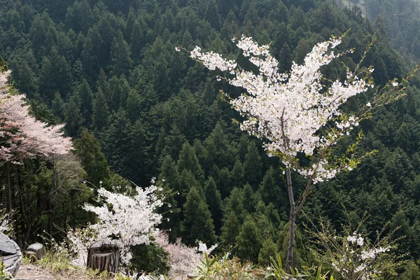
M216 235L214 234L211 213L197 188L191 188L183 208L185 217L181 222L183 243L195 246L196 240L200 240L207 244L214 244Z

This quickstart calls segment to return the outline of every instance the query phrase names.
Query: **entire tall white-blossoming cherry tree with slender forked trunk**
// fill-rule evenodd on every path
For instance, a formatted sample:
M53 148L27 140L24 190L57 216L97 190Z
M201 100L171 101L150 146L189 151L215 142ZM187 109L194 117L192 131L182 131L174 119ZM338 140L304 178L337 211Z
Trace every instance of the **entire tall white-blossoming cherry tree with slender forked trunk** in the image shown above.
M403 87L393 80L384 88L376 88L377 94L372 102L356 113L346 114L341 105L347 99L367 92L370 87L374 88L370 78L374 69L362 68L360 62L353 71L346 67L347 74L343 80L323 77L322 66L347 52L353 52L334 51L342 42L342 37L332 37L329 41L318 43L304 58L304 63L298 65L293 62L288 73L279 73L279 63L270 54L268 45L258 45L245 36L232 41L237 43L244 57L258 67L258 73L246 71L235 61L224 59L218 53L202 52L198 46L190 51L190 57L210 70L228 72L218 79L246 90L237 98L225 94L232 108L244 118L240 124L241 130L265 139L267 154L281 158L285 165L283 174L286 175L290 202L286 271L290 272L293 266L295 219L308 194L316 183L328 181L338 172L351 170L360 162L360 157L353 157L356 144L349 146L344 155L332 155L337 141L349 135L360 120L370 116L372 108L400 97ZM360 135L357 139L360 140ZM299 160L305 156L310 165L304 165ZM293 194L292 171L307 178L304 192L297 201Z

